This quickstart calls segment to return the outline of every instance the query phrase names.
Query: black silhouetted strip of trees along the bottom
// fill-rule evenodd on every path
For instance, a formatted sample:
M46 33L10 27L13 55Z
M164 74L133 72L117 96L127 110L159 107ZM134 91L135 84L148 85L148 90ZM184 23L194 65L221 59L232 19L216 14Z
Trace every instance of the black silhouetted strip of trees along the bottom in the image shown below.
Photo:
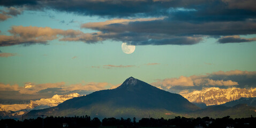
M142 118L139 121L133 119L99 118L89 116L75 117L38 117L36 119L25 119L16 121L14 119L1 119L0 127L104 127L104 128L129 128L129 127L256 127L256 117L235 118L229 116L223 118L185 118L175 117L173 119Z

